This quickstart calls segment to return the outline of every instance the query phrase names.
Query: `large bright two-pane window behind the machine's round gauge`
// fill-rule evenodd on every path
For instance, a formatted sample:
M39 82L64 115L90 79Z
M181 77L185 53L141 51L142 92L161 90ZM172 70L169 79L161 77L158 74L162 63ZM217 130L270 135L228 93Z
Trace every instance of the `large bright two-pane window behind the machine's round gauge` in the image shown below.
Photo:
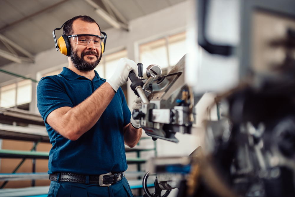
M159 65L163 74L168 71L186 54L186 32L162 37L139 46L140 62L144 70L151 64Z

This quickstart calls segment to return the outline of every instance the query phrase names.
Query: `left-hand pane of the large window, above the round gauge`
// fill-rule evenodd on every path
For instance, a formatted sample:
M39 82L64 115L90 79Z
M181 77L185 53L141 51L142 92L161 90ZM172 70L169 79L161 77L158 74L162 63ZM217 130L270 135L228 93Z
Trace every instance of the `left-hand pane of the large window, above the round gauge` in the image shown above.
M166 39L162 38L153 42L140 45L140 63L143 64L143 70L151 64L157 64L161 68L168 67Z

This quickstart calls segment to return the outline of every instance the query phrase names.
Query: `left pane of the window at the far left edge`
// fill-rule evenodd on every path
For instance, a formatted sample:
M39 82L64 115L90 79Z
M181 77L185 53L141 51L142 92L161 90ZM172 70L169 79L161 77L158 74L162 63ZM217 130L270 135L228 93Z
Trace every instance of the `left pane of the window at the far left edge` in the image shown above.
M13 107L15 106L16 84L1 87L0 93L0 107Z

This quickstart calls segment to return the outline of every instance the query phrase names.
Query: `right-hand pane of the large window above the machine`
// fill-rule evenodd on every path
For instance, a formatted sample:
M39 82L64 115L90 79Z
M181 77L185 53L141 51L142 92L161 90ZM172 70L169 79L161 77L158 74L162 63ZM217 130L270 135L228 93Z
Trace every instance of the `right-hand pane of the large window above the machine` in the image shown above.
M176 63L187 53L186 45L186 32L176 34L168 37L168 50L170 66L175 66Z

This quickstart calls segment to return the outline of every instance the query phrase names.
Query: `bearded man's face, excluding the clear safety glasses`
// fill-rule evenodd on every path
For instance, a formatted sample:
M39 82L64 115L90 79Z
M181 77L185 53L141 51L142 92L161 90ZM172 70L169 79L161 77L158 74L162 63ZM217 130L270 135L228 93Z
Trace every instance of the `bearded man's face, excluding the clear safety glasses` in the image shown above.
M89 23L77 19L73 22L73 34L94 34L101 35L96 23ZM101 60L101 47L94 46L90 41L89 45L77 45L73 39L71 42L71 61L80 71L93 70Z

